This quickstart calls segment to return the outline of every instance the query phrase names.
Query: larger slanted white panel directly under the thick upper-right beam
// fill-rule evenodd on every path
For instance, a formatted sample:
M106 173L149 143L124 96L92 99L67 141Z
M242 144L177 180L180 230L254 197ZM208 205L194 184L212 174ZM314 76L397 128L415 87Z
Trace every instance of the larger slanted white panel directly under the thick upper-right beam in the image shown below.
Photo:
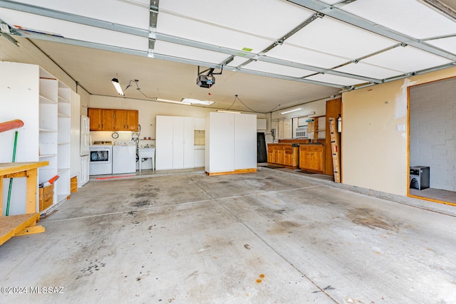
M398 43L328 16L316 19L286 42L351 59Z

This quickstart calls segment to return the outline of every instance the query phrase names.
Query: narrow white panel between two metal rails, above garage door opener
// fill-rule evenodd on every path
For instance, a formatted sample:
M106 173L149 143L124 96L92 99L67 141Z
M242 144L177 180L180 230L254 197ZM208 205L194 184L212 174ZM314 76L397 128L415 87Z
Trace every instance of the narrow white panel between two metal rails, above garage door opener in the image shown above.
M155 41L154 53L215 64L222 63L228 57L227 54L165 41Z

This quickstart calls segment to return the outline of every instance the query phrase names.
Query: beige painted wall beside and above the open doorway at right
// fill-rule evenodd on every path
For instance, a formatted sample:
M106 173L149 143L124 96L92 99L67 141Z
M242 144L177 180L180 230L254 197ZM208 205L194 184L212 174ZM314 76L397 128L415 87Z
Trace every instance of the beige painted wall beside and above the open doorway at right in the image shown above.
M448 68L343 93L342 182L406 195L408 86L455 75Z

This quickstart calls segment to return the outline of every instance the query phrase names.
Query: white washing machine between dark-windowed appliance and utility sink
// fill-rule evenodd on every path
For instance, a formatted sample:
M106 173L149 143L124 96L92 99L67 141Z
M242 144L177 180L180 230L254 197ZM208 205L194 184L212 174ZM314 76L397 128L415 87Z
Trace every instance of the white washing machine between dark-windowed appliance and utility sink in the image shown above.
M118 141L113 146L113 174L136 172L136 142Z

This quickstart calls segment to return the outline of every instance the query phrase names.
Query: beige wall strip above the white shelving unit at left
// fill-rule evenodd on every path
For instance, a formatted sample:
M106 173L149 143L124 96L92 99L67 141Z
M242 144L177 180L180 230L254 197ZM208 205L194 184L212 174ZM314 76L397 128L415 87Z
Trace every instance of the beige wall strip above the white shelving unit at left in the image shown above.
M41 68L47 70L51 75L56 76L58 80L68 85L71 90L77 92L81 96L81 114L87 114L87 105L89 101L89 94L81 88L76 86L68 74L65 73L56 63L51 61L39 48L25 38L16 37L19 41L19 46L14 45L0 36L0 61L12 61L19 63L30 63L40 65Z

